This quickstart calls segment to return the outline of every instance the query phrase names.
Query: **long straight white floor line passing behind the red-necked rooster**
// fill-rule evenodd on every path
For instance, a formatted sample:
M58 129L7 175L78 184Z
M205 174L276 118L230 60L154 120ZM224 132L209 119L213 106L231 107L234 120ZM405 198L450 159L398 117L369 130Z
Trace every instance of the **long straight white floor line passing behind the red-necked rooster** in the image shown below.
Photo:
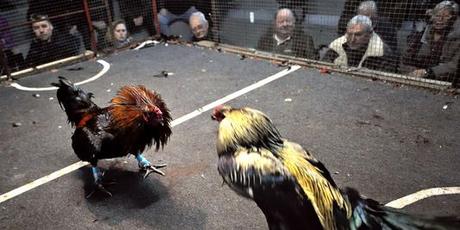
M179 118L173 120L171 122L171 127L179 125L179 124L181 124L181 123L183 123L183 122L185 122L187 120L190 120L190 119L192 119L192 118L194 118L194 117L196 117L196 116L198 116L198 115L200 115L200 114L202 114L202 113L214 108L217 105L220 105L220 104L223 104L225 102L228 102L228 101L230 101L232 99L235 99L235 98L237 98L237 97L239 97L239 96L241 96L241 95L243 95L245 93L248 93L248 92L250 92L250 91L252 91L254 89L257 89L257 88L259 88L261 86L264 86L264 85L266 85L266 84L268 84L268 83L270 83L270 82L272 82L272 81L274 81L276 79L282 78L282 77L286 76L287 74L298 70L299 68L300 68L300 66L297 66L297 65L292 66L290 69L282 70L277 74L274 74L274 75L272 75L270 77L267 77L267 78L265 78L263 80L260 80L260 81L254 83L254 84L252 84L250 86L247 86L247 87L245 87L245 88L243 88L241 90L238 90L238 91L236 91L236 92L234 92L232 94L229 94L229 95L227 95L227 96L225 96L225 97L223 97L223 98L221 98L221 99L219 99L219 100L217 100L215 102L207 104L207 105L205 105L205 106L203 106L203 107L201 107L201 108L199 108L199 109L197 109L197 110L195 110L195 111L193 111L193 112L191 112L189 114L186 114L186 115L184 115L182 117L179 117ZM79 161L79 162L74 163L74 164L72 164L70 166L67 166L67 167L65 167L63 169L60 169L60 170L58 170L56 172L53 172L53 173L49 174L48 176L44 176L44 177L42 177L40 179L37 179L37 180L35 180L33 182L30 182L30 183L28 183L26 185L23 185L23 186L21 186L21 187L19 187L17 189L14 189L14 190L12 190L10 192L2 194L2 195L0 195L0 203L5 202L5 201L7 201L7 200L9 200L11 198L14 198L15 196L19 196L22 193L25 193L25 192L27 192L29 190L32 190L32 189L34 189L34 188L36 188L36 187L38 187L40 185L46 184L46 183L48 183L48 182L50 182L50 181L52 181L54 179L57 179L57 178L59 178L61 176L64 176L65 174L70 173L72 171L75 171L75 170L77 170L77 169L79 169L79 168L81 168L83 166L86 166L86 165L88 165L87 162Z

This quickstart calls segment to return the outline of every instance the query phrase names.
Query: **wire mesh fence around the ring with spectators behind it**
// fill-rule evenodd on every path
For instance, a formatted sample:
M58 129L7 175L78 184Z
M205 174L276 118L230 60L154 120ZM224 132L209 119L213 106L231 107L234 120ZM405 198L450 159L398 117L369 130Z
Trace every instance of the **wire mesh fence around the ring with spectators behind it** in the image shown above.
M334 68L458 81L455 1L3 0L0 10L3 73L161 34Z

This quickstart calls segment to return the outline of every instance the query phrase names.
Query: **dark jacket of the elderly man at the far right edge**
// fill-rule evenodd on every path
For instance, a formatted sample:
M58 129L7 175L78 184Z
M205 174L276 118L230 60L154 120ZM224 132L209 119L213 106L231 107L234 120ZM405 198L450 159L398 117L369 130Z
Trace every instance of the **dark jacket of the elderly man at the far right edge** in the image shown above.
M414 69L427 69L431 78L439 80L452 79L457 70L460 57L460 19L446 34L442 48L434 48L431 26L422 32L413 32L408 37L408 48L401 58L402 72Z

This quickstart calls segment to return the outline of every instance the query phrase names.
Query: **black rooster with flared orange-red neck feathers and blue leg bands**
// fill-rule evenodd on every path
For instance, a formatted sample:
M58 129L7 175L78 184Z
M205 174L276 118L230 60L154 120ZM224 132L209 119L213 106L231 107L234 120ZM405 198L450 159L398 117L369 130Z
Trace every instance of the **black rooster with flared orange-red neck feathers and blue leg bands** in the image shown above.
M152 144L156 150L163 147L171 135L171 115L159 94L145 86L124 86L108 107L100 108L91 101L92 93L64 77L52 85L58 87L59 104L75 127L73 150L80 160L91 163L96 189L111 195L102 185L103 173L97 167L100 159L133 154L144 178L151 172L164 175L158 168L165 164L152 165L142 156Z

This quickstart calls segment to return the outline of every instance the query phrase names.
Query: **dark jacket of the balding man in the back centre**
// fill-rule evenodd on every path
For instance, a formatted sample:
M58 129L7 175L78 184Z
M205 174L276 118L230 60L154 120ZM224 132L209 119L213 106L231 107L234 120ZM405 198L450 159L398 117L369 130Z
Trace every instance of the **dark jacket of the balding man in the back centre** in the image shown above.
M301 58L318 59L318 53L313 44L313 38L300 29L294 30L294 35L291 39L277 45L274 38L274 29L271 27L259 39L257 49Z

